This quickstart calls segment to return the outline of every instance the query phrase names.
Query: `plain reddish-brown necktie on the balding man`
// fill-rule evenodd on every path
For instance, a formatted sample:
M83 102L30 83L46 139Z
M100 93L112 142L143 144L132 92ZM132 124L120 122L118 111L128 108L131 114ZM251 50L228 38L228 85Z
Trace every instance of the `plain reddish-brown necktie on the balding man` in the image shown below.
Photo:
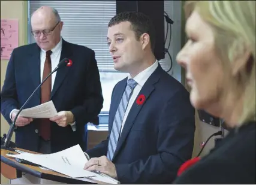
M47 75L52 72L52 62L50 55L52 51L46 51L46 61L44 62L44 72L43 72L43 80L47 77ZM50 101L50 95L52 92L52 76L47 78L41 86L41 104ZM50 120L49 119L40 119L40 127L39 133L44 140L50 139Z

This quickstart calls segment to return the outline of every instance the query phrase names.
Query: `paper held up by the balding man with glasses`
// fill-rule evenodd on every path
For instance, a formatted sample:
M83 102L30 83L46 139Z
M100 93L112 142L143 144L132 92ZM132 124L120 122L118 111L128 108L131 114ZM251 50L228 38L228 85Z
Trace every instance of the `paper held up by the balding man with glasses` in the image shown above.
M18 113L19 110L14 110L14 113ZM23 109L20 114L23 117L32 117L32 118L51 118L58 115L58 112L55 108L55 105L52 101L46 102L44 104Z

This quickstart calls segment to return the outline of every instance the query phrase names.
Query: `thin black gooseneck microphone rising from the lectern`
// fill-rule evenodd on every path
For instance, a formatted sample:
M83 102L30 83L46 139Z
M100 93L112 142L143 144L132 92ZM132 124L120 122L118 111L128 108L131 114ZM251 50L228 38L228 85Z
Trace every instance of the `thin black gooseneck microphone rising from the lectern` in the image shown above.
M11 137L13 136L13 132L16 129L15 123L16 123L17 117L19 116L20 112L23 110L25 105L28 104L29 100L32 98L32 96L37 91L37 89L42 86L44 81L46 81L47 78L49 78L50 75L53 74L53 72L56 72L58 69L63 68L64 66L71 66L72 64L73 64L72 60L67 59L67 58L62 59L61 62L58 63L58 66L56 66L56 68L49 75L47 75L47 77L39 84L39 86L37 86L37 88L34 90L34 92L32 92L32 94L29 96L29 98L26 100L26 102L22 105L22 107L20 108L20 110L16 114L13 122L11 123L8 134L7 135L4 134L3 138L1 138L1 148L2 149L15 151L13 149L13 147L16 147L16 146L14 146L13 142L11 142L11 144L10 144L10 141L11 141Z

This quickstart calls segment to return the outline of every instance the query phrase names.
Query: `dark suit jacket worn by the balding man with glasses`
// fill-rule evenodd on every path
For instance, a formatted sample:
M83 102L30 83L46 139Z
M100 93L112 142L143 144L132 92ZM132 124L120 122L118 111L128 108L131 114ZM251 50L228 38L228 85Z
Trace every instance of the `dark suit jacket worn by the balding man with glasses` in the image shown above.
M94 51L62 40L60 60L64 57L71 59L73 65L57 71L51 99L58 112L71 111L74 114L76 131L73 132L71 126L62 128L52 122L52 152L75 144L84 148L84 126L91 119L95 119L103 107L100 75ZM19 109L39 84L40 48L35 43L15 48L7 66L1 95L1 113L9 124L11 110ZM25 108L40 105L40 97L39 88ZM37 119L16 129L17 147L38 151L38 141Z

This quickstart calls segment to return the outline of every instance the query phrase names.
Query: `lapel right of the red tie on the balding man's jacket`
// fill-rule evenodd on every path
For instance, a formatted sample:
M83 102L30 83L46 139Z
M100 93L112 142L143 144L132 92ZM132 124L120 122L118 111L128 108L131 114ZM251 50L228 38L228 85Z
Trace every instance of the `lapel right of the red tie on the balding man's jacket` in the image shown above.
M65 57L67 57L68 59L70 59L72 53L71 50L68 46L68 43L62 39L62 50L61 50L61 57L59 59L59 62L64 59ZM55 77L55 82L53 85L53 90L51 93L51 99L52 97L55 95L56 91L59 89L59 87L61 86L63 80L65 79L66 75L68 74L68 71L70 70L71 67L63 67L58 69L57 73L56 73L56 77Z

